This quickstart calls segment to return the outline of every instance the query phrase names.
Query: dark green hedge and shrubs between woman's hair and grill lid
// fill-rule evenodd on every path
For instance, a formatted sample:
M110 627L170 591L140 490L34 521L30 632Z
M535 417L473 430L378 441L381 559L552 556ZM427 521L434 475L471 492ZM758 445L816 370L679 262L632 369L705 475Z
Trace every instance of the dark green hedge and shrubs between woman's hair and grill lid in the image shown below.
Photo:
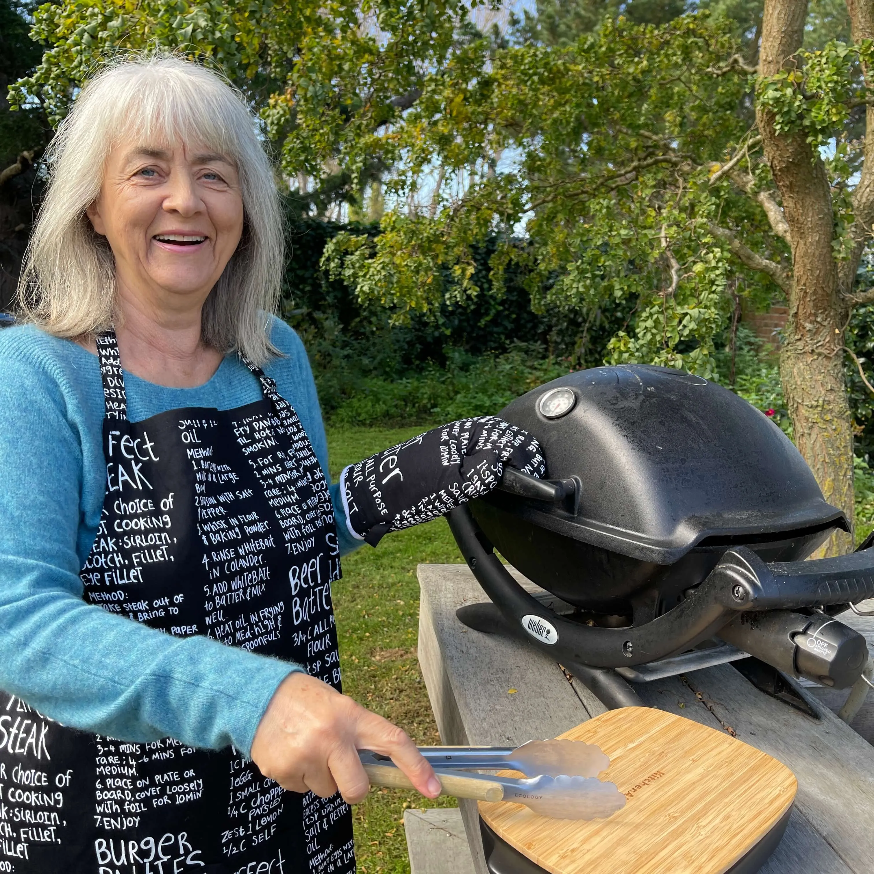
M289 202L289 210L294 208ZM626 320L622 309L595 310L586 323L560 308L533 312L527 274L518 265L508 267L496 292L489 281L495 239L475 249L480 290L474 297L448 295L426 315L362 302L320 263L326 243L337 235L371 239L378 230L300 216L293 225L284 317L307 346L331 422L427 424L496 413L571 365L600 364L607 342Z

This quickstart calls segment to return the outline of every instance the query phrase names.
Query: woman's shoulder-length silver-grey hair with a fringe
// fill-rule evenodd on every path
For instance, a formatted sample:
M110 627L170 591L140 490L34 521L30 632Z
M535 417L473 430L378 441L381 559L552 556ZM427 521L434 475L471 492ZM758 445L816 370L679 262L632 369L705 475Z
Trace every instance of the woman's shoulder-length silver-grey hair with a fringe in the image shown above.
M110 150L132 131L147 140L199 142L239 171L243 235L206 299L204 342L254 364L276 354L267 334L279 299L283 226L274 172L246 102L218 73L171 54L140 54L105 66L82 88L47 153L49 181L18 283L22 314L54 336L110 327L115 267L87 207L100 194Z

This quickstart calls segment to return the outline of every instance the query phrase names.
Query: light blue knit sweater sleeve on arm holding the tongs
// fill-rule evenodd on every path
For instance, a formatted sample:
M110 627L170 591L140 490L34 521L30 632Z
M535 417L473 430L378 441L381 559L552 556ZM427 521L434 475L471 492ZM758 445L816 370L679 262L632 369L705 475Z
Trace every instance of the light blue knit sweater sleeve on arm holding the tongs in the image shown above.
M0 410L0 689L89 732L248 754L300 668L82 600L82 448L64 392L37 364L4 359Z

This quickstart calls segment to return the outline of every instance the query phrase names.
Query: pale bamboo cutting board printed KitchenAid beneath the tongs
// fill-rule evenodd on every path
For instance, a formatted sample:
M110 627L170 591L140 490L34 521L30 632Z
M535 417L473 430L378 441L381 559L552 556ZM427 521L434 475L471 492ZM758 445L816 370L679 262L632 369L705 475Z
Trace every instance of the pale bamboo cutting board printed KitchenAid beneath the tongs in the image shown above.
M572 822L520 804L479 804L498 836L551 874L724 874L794 801L787 766L673 713L625 707L561 737L607 753L600 779L625 794L624 808Z

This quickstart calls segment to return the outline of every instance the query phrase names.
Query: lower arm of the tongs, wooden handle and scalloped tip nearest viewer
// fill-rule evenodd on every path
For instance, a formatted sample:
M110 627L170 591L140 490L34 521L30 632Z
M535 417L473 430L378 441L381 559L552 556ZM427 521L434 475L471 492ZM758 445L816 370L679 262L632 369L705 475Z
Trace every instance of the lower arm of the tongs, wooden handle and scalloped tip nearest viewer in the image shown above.
M361 750L358 753L368 780L374 786L412 789L413 784L397 766L386 764L385 757ZM494 767L494 765L493 765ZM555 819L603 819L625 806L625 796L614 783L594 777L557 777L541 774L517 780L513 777L465 773L437 768L434 773L443 787L440 794L476 801L510 801L524 804L541 816Z

